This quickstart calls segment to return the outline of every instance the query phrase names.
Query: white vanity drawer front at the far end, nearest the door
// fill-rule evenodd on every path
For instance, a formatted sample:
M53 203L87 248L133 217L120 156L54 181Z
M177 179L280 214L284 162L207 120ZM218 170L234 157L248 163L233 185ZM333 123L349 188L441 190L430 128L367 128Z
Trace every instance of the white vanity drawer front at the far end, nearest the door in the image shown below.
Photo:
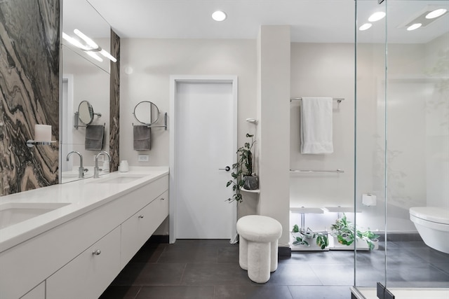
M168 216L168 190L121 225L121 269Z

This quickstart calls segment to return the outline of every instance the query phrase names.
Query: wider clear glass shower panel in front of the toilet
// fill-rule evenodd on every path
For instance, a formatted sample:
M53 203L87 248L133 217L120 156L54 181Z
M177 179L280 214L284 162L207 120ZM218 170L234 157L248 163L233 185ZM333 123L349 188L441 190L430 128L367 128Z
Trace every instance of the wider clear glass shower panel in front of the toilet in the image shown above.
M386 8L386 286L401 298L396 288L449 287L449 254L422 241L409 213L449 209L449 13L426 18L449 1L388 0Z

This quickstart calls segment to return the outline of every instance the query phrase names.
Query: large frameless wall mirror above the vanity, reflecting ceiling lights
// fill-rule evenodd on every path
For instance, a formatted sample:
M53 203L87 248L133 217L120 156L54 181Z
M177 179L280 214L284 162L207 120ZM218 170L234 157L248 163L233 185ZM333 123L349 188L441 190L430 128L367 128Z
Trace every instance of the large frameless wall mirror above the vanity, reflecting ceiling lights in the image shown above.
M62 0L61 183L93 176L95 155L109 151L110 32L88 1Z

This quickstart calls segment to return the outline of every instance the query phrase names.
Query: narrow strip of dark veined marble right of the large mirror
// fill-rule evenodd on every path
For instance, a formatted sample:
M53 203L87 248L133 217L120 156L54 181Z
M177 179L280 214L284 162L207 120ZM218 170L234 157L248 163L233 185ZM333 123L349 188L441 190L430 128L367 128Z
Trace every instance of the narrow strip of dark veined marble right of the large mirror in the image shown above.
M119 167L119 132L120 132L120 36L111 30L111 54L117 62L111 62L111 104L109 120L109 153L112 162L109 168L115 172Z

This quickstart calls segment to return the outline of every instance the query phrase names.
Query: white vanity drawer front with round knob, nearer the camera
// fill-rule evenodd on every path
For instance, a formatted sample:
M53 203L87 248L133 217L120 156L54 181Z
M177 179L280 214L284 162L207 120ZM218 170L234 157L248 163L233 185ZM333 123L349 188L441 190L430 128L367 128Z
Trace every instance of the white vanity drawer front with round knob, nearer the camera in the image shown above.
M120 227L46 280L46 299L98 298L120 272Z

